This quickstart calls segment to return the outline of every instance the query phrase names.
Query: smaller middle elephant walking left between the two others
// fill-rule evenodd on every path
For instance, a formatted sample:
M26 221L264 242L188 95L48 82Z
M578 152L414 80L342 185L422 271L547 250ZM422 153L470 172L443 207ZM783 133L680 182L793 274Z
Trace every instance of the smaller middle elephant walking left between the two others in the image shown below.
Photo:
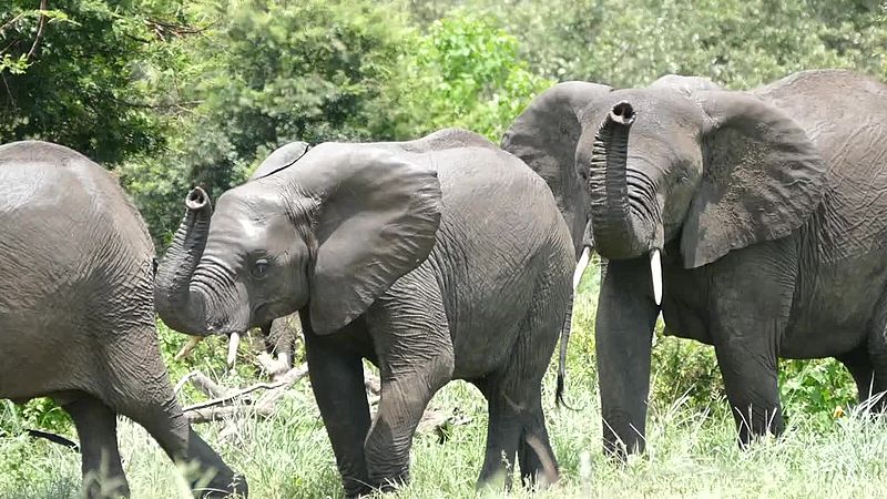
M325 143L223 194L195 190L160 266L166 324L231 334L300 310L317 404L349 496L408 479L412 434L450 379L489 401L480 483L518 455L557 480L541 380L571 294L544 182L483 138ZM370 420L361 358L381 374ZM506 478L506 483L508 483Z

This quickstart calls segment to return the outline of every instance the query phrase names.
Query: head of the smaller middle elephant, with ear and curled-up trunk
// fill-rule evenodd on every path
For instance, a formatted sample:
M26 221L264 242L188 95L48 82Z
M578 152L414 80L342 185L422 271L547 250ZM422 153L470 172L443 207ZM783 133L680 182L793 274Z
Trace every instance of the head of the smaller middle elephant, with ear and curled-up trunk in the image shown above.
M200 187L187 195L155 279L172 328L234 335L304 309L315 333L330 333L428 256L440 223L434 167L373 144L278 152L281 167L225 192L215 213Z

